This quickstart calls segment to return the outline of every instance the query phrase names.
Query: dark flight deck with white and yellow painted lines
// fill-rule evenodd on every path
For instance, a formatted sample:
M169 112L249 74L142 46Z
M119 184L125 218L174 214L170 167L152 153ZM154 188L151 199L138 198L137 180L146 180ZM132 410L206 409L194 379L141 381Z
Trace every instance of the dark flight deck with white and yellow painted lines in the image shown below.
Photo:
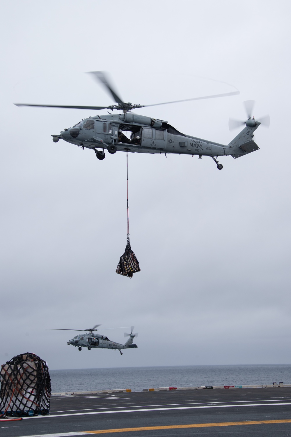
M1 437L291 435L291 387L52 395L47 416L0 421Z

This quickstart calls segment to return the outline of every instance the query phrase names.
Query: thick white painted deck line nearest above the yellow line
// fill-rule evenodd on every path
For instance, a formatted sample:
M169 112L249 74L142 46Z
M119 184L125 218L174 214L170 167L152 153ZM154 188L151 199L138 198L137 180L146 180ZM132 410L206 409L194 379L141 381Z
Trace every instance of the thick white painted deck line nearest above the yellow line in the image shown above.
M170 408L139 408L139 409L129 409L129 410L113 410L113 411L91 411L89 413L70 413L70 414L52 414L48 416L31 416L31 417L24 417L24 420L29 419L40 419L45 418L48 419L49 417L68 417L68 416L87 416L89 414L116 414L116 413L135 413L135 412L147 412L147 411L171 411L171 410L183 410L183 409L201 409L201 408L237 408L237 407L255 407L255 406L279 406L279 405L291 405L291 402L281 402L281 403L269 403L269 404L232 404L232 405L203 405L203 406L193 406L193 407L170 407Z

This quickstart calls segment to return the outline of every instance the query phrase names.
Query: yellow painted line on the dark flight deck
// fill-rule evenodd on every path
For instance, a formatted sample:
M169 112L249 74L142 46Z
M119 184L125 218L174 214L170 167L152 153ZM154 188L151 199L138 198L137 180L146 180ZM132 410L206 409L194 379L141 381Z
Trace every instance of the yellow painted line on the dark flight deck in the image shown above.
M130 431L174 430L174 429L181 429L181 428L231 427L234 425L261 425L262 423L291 423L291 419L250 420L245 422L192 423L191 425L165 425L161 427L116 428L113 430L97 430L97 431L83 431L83 432L89 434L109 434L109 433L128 433Z

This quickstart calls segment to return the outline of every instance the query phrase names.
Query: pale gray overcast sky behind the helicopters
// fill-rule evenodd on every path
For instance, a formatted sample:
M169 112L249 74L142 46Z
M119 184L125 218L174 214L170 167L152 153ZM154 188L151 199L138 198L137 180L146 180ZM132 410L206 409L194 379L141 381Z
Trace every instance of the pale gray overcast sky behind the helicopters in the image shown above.
M1 2L0 364L35 352L49 368L291 362L289 1ZM179 131L228 144L228 119L255 100L260 150L219 171L209 157L126 155L51 134L124 101L240 95L143 108ZM215 80L215 81L214 81ZM225 83L230 85L227 85ZM106 111L99 111L99 114ZM82 350L45 328L136 326L138 349ZM104 331L123 343L126 329Z

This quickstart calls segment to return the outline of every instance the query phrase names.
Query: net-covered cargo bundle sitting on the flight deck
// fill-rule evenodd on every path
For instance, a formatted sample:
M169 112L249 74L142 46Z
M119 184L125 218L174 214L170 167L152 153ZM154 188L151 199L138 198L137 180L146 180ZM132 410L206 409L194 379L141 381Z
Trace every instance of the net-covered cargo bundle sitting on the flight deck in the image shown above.
M21 354L1 366L0 417L48 414L48 365L35 354Z

